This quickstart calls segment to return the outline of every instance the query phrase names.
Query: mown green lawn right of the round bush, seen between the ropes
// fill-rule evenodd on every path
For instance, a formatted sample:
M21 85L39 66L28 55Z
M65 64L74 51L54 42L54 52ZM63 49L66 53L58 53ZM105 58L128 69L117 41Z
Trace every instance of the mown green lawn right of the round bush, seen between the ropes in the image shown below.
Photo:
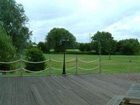
M54 54L54 55L45 55L46 58L51 56L52 59L62 61L62 54ZM66 55L66 61L70 59L75 59L76 55ZM78 58L78 67L85 68L85 70L79 70L78 73L98 73L99 69L88 71L86 69L96 68L99 64L97 55L77 55ZM97 60L93 63L83 63L80 60L84 61L93 61ZM76 65L76 62L68 62L66 63L67 68L71 68ZM62 63L52 62L52 66L56 68L62 68ZM121 55L113 55L111 60L109 60L108 56L101 56L101 70L102 73L125 73L125 72L140 72L140 56L121 56ZM68 72L74 73L76 70L67 69Z

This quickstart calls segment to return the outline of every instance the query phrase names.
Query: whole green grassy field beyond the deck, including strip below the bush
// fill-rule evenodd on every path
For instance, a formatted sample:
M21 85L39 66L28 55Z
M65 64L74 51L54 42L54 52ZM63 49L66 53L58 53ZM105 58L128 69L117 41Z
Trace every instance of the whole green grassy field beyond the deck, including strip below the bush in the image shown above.
M77 56L77 63L76 63ZM63 68L63 54L45 54L46 59L51 61L46 62L48 70L37 73L25 73L25 76L46 76L46 75L61 75ZM85 63L94 61L91 63ZM84 62L83 62L84 61ZM77 65L77 69L76 69ZM66 54L66 72L67 74L92 74L99 73L99 56L98 55L73 55ZM122 56L113 55L111 60L108 56L101 56L101 72L102 73L131 73L140 72L140 56ZM17 73L22 75L21 72Z

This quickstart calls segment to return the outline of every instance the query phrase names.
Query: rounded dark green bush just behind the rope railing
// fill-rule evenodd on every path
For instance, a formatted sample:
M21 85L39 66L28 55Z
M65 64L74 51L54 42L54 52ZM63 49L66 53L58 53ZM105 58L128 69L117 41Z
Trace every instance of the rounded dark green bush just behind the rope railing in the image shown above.
M26 52L26 59L31 62L44 61L43 52L38 48L28 49ZM31 71L40 71L45 69L45 62L43 63L26 63L26 69Z

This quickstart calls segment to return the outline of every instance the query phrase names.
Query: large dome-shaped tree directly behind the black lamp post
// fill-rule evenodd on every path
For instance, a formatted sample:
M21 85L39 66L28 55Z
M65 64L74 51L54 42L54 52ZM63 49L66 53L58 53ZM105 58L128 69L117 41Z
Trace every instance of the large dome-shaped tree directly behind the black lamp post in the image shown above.
M46 37L49 49L53 48L55 52L64 51L63 41L66 41L66 48L73 48L75 45L76 38L64 28L53 28Z

